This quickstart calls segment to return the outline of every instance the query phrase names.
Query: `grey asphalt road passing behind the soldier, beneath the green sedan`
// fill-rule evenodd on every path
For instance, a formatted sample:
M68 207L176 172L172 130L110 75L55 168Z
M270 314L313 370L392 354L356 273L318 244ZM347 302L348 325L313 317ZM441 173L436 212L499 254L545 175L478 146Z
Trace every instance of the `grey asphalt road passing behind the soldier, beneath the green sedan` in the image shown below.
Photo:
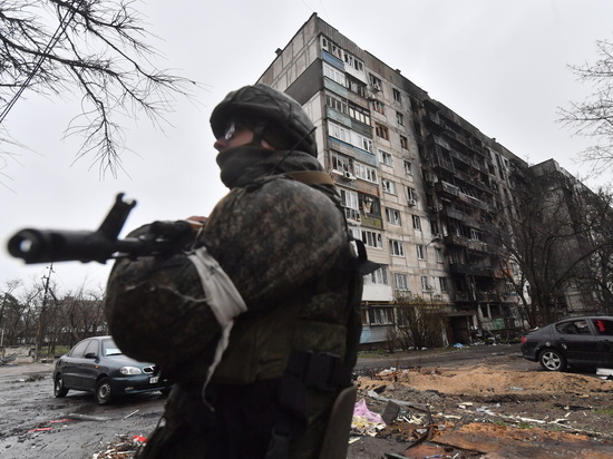
M520 359L518 345L484 345L363 358L357 369L460 367L502 353L517 355L518 365L537 365ZM121 436L147 437L163 412L164 398L158 392L105 407L84 392L70 391L65 399L56 399L51 371L51 364L39 363L0 367L1 459L89 459Z

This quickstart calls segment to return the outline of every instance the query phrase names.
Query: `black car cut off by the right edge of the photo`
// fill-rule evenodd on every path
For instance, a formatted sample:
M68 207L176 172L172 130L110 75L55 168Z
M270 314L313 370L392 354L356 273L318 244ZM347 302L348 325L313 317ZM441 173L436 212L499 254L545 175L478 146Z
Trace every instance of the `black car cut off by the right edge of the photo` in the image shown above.
M522 338L522 354L547 371L613 368L613 318L568 318L533 330Z

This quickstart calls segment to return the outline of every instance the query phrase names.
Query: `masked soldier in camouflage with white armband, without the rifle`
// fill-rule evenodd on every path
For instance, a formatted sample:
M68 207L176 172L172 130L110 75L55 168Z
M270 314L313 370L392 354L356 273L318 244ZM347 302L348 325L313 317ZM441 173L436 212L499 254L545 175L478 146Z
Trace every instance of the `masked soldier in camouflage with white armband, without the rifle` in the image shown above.
M181 251L119 261L109 277L117 344L176 381L140 457L346 457L373 266L350 241L300 104L246 86L211 126L230 193L197 232L178 231Z

